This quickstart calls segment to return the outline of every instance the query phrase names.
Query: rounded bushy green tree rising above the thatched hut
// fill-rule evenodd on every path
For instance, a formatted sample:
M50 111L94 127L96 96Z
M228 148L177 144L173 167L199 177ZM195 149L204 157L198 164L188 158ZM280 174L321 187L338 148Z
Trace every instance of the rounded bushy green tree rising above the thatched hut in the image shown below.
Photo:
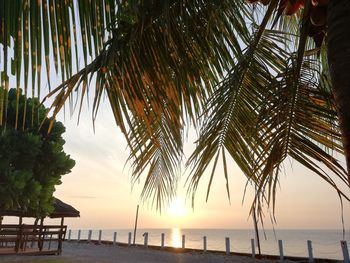
M19 115L17 91L11 89L6 121L0 126L0 207L45 216L52 210L55 186L61 184L61 176L69 173L75 162L63 151L63 124L46 119L39 130L46 108L39 106L36 98L18 95ZM16 116L21 123L19 129L15 129ZM48 134L50 123L53 126Z

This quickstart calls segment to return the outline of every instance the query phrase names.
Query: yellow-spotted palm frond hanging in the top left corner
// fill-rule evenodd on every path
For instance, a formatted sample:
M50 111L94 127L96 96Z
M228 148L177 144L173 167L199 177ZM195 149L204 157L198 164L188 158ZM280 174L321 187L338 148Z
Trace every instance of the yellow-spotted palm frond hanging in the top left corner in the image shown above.
M1 0L1 86L8 91L9 76L14 75L18 89L24 83L26 96L29 95L28 86L31 84L30 96L40 97L43 68L46 68L49 88L52 73L60 74L62 81L70 78L79 67L78 55L82 55L84 62L88 63L111 37L111 30L106 28L115 23L118 2ZM11 53L13 55L10 57ZM6 111L6 103L4 96L0 104L1 111Z

